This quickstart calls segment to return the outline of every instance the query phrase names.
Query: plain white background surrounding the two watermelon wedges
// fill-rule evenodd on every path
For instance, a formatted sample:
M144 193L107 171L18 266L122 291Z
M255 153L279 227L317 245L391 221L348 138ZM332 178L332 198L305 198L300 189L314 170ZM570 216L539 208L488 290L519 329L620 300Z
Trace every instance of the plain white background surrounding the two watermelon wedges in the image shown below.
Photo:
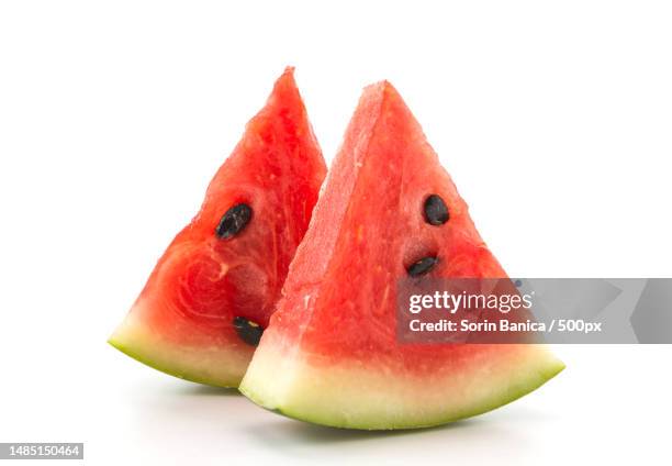
M93 465L670 464L670 346L560 347L514 404L377 434L105 344L288 64L327 159L390 79L512 276L670 276L670 3L0 3L0 442L86 442Z

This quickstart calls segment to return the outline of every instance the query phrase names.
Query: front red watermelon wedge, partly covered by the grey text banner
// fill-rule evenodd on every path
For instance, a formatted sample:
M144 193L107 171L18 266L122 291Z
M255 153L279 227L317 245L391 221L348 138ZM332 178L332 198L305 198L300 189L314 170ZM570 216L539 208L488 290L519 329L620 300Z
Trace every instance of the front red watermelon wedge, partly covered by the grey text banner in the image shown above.
M447 212L427 219L432 195ZM564 367L541 345L401 344L397 284L426 256L438 259L428 278L506 277L413 114L381 82L359 101L240 391L318 424L407 429L494 409Z

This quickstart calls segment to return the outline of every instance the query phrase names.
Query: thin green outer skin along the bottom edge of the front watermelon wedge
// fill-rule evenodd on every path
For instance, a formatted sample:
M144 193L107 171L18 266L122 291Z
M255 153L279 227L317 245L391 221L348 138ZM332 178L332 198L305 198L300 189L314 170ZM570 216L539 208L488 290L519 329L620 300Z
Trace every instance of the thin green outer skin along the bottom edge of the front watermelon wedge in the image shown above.
M265 377L260 374L255 374L255 360L253 360L253 365L246 377L243 379L243 382L238 390L245 395L248 399L250 399L256 404L265 408L271 412L284 415L290 419L295 419L299 421L310 422L313 424L325 425L329 428L337 429L354 429L354 430L365 430L365 431L380 431L380 430L413 430L413 429L425 429L425 428L434 428L438 425L444 425L457 421L461 421L467 418L472 418L474 415L480 415L486 413L489 411L501 408L505 404L508 404L528 393L541 387L548 380L557 376L561 373L565 365L549 353L547 353L547 359L544 360L539 367L530 369L527 373L527 378L525 380L517 380L516 384L513 384L508 390L501 392L499 396L494 396L490 399L485 399L481 404L474 407L473 409L459 412L459 414L447 414L447 415L435 415L433 419L427 418L426 421L400 421L390 422L389 420L371 417L370 419L366 417L359 417L351 422L344 422L343 419L338 419L338 417L334 417L329 414L329 409L325 409L323 411L316 410L305 410L302 409L302 403L299 402L295 406L291 403L283 403L277 401L270 401L271 397L265 396L261 391L267 389L267 386L260 385L260 380ZM254 379L254 380L250 380ZM267 382L268 384L268 382ZM272 382L271 382L272 384ZM256 388L260 388L261 390L256 390ZM496 391L495 391L496 392ZM305 393L306 397L310 397L309 393ZM450 393L446 393L447 397ZM323 392L320 395L324 399L325 403L329 403L329 393ZM296 396L294 393L294 399L301 399L302 396ZM344 406L343 399L332 400L334 406ZM347 407L347 404L346 404Z

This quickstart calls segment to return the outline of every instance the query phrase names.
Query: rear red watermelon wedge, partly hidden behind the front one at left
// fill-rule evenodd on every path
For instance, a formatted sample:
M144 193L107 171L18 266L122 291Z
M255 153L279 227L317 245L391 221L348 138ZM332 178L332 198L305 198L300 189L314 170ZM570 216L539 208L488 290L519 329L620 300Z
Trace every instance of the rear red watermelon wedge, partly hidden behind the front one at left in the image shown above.
M110 343L167 374L237 387L325 173L288 68Z

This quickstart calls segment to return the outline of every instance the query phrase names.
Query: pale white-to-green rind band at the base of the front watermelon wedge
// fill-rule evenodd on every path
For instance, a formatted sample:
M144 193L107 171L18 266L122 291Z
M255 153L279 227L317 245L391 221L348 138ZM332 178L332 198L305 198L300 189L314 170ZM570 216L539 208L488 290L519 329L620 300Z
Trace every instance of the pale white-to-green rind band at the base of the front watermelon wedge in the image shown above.
M564 368L545 346L502 345L486 359L474 356L467 371L421 378L381 369L385 365L311 364L295 348L284 351L268 340L240 391L269 410L336 428L415 429L457 421L520 398Z

